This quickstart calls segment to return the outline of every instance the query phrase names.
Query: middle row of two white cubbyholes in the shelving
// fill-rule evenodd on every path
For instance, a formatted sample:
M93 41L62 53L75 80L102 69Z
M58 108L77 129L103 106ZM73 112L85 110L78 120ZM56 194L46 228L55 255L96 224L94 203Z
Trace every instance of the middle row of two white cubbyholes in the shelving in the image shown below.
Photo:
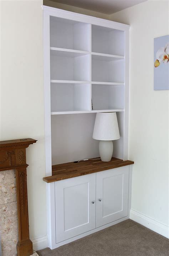
M124 83L124 56L50 47L51 80Z

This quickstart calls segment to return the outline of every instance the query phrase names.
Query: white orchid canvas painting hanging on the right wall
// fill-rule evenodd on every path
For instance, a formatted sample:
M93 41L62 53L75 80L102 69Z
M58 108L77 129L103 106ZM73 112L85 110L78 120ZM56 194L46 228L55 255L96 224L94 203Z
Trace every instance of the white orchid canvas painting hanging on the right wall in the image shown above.
M154 38L154 90L169 90L169 35Z

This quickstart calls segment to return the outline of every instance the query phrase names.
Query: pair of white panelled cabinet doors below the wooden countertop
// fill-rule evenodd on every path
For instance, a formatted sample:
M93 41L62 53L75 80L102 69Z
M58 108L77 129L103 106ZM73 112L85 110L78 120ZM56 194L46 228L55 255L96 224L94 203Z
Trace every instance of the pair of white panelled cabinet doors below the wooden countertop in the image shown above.
M56 242L128 215L129 166L55 182Z

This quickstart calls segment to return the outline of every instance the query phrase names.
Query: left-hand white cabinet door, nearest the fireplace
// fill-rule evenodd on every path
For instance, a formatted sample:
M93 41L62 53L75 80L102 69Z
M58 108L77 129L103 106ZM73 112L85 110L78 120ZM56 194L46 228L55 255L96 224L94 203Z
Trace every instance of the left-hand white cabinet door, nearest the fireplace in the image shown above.
M57 243L96 228L95 200L96 174L55 182Z

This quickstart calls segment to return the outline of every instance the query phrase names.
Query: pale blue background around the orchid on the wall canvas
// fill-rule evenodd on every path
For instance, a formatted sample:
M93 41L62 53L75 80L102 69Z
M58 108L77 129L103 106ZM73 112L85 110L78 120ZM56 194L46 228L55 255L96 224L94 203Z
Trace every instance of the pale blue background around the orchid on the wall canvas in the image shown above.
M157 60L157 51L160 47L165 47L169 42L169 35L154 38L154 62ZM158 67L154 67L154 90L169 90L169 60L167 63L160 62Z

